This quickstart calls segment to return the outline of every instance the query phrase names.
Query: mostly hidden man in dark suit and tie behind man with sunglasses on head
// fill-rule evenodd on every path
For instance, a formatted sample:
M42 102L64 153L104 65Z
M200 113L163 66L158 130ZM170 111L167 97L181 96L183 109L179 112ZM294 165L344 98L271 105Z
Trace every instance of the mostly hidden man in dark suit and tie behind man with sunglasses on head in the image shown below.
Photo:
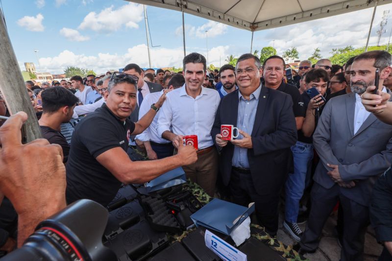
M142 69L137 65L137 64L128 64L124 67L123 70L124 73L127 74L132 74L136 77L139 78L138 83L137 83L137 88L138 88L138 92L137 92L137 103L136 103L136 107L135 110L133 110L131 116L129 116L129 119L132 122L136 122L139 120L139 108L140 105L142 104L143 98L147 96L147 94L149 93L157 93L162 91L162 85L160 84L156 84L153 82L146 82L144 80L144 71L142 71ZM132 160L137 160L140 158L140 155L138 155L137 153L135 153L134 149L136 149L136 142L138 143L139 146L141 146L141 148L144 148L143 142L138 142L135 141L135 136L130 136L129 139L129 147L128 148L128 155L131 157Z

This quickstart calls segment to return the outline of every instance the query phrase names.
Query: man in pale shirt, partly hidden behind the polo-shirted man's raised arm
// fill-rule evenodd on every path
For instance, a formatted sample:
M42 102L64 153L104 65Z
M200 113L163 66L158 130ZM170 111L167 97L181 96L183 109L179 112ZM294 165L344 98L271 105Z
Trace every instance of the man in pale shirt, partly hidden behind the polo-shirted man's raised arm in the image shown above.
M184 83L184 76L182 76L181 74L175 74L169 81L168 88L166 89L172 91L174 89L182 87ZM161 95L163 95L164 91L165 90L162 90L159 93L148 94L143 99L142 105L140 106L139 110L139 119L141 119L149 111L151 104L158 101ZM143 133L136 136L137 140L143 142L144 147L146 148L148 159L150 160L163 159L166 157L173 156L174 151L172 142L163 139L161 136L158 135L158 132L156 130L159 113L160 112L157 113L148 128Z

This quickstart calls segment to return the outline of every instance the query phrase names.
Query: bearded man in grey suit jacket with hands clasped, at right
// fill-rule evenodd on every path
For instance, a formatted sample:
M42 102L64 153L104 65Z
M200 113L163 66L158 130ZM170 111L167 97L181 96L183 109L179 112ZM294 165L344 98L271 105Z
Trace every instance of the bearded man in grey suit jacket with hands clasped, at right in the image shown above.
M316 251L322 228L339 200L344 212L340 260L364 260L373 185L392 163L392 126L368 112L361 95L374 85L377 68L379 93L386 92L383 81L392 71L391 62L386 51L358 55L350 69L352 93L334 97L325 105L313 135L320 161L312 207L301 241L294 246L300 253Z

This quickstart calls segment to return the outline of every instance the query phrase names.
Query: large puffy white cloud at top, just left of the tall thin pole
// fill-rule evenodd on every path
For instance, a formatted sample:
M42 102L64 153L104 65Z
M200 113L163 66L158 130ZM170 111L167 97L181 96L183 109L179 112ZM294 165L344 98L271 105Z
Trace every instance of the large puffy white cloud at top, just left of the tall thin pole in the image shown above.
M99 32L117 31L122 27L139 28L137 24L143 19L143 5L127 3L118 9L114 5L103 9L98 14L90 12L83 19L78 29L90 29Z

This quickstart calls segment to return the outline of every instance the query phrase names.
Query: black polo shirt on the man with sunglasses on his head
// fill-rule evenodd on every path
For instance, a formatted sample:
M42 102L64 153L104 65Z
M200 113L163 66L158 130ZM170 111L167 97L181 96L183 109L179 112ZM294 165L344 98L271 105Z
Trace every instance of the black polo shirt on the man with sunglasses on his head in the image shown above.
M121 121L106 104L80 120L73 131L66 166L68 204L82 198L94 200L103 206L110 203L121 182L96 158L115 147L126 151L134 129L135 123L129 119Z

